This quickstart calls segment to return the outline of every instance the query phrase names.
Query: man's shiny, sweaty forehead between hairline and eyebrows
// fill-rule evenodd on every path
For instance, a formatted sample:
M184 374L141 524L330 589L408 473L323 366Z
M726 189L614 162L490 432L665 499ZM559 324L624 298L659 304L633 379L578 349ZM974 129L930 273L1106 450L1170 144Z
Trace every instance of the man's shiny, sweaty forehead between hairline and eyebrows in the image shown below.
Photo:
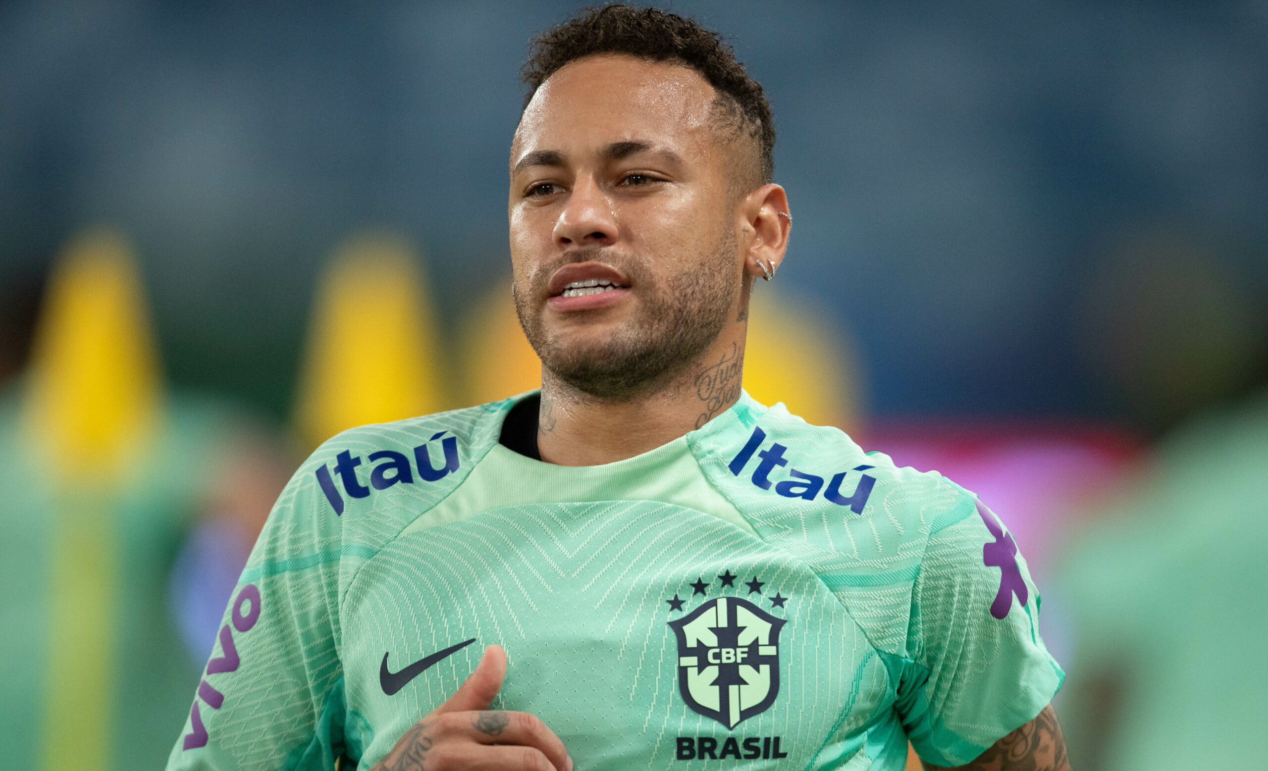
M625 55L569 62L534 94L511 164L535 150L585 152L638 137L680 153L708 152L715 91L695 70Z

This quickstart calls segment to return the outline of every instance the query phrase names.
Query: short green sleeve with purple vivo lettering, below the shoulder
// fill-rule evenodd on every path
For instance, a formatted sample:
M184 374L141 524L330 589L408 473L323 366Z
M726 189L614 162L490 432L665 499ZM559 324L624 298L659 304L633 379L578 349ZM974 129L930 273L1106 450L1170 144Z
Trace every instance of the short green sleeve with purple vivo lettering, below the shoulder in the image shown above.
M170 771L332 770L342 749L340 536L309 465L283 491L238 580Z

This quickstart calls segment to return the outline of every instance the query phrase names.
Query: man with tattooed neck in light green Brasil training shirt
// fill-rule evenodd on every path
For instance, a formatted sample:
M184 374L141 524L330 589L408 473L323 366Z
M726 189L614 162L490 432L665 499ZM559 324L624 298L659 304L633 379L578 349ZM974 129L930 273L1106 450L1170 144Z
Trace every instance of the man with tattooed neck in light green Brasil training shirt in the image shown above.
M525 71L508 214L540 394L313 454L169 767L902 768L910 739L1065 768L995 516L741 391L791 230L761 86L620 5Z

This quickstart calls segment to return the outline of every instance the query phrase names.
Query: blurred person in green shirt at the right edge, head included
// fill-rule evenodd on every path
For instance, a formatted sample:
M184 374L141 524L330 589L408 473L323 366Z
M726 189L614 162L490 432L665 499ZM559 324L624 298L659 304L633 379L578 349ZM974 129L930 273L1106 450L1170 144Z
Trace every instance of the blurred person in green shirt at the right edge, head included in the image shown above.
M1108 260L1089 351L1160 439L1084 521L1059 590L1083 771L1262 768L1268 755L1268 316L1175 232Z

